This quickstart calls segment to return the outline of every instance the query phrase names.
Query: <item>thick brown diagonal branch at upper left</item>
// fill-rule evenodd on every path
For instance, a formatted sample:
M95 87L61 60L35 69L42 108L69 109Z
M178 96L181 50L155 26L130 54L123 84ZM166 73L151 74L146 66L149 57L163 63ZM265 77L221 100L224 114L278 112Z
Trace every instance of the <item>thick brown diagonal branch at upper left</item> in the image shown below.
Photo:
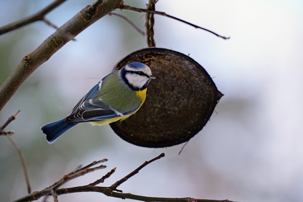
M21 84L40 65L81 31L85 30L89 25L92 25L109 12L115 10L121 3L122 0L98 0L94 4L83 8L72 19L59 27L54 34L43 41L36 50L26 55L0 86L0 111Z

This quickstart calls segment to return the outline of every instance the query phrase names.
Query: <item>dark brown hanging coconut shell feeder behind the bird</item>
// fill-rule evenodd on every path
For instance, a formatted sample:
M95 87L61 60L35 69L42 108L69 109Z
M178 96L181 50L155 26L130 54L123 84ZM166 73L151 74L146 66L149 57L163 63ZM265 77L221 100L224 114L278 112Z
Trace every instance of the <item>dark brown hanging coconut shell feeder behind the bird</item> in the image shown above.
M169 147L188 141L211 117L223 96L192 58L165 48L145 48L122 59L114 70L142 62L156 77L140 110L110 126L118 136L142 147Z

